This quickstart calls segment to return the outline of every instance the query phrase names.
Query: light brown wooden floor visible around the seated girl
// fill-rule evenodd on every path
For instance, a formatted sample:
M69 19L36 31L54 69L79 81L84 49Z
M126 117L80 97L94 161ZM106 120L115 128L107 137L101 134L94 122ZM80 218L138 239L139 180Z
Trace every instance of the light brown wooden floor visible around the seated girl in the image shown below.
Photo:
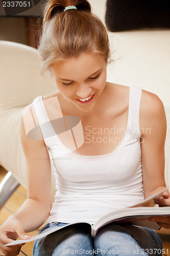
M0 166L0 182L3 180L5 175L7 174L6 170ZM0 210L0 226L4 223L4 221L13 213L15 213L21 204L26 200L27 198L27 190L19 186L15 193L11 196L11 198L6 202L4 207ZM35 230L34 232L28 233L30 236L34 236L35 234L38 234L39 230ZM163 242L163 249L165 250L165 255L170 256L170 229L164 229L162 228L160 231L157 231L159 236L162 239ZM33 250L33 244L34 242L26 243L24 246L22 246L19 256L32 256L32 250ZM4 255L0 250L0 255ZM154 256L154 254L153 254Z

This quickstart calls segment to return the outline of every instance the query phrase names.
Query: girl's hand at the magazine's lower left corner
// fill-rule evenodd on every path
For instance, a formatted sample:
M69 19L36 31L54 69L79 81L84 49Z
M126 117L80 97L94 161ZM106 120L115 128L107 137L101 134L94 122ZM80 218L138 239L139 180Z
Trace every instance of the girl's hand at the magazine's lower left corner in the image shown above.
M0 249L5 255L16 256L19 254L20 248L24 244L4 247L5 244L13 242L18 237L20 239L30 238L23 230L22 223L15 217L11 216L0 227Z

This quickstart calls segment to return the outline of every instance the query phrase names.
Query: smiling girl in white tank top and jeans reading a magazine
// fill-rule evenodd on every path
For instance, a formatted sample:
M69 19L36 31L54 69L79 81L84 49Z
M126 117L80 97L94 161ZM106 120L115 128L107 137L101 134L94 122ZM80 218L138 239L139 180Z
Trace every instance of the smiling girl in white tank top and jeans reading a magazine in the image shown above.
M58 90L37 97L22 113L28 199L0 229L0 248L12 256L20 245L3 245L29 238L26 232L39 228L49 214L40 232L71 222L94 223L166 187L163 104L138 87L106 81L108 36L88 1L46 3L39 52L42 73L50 70ZM53 204L50 160L57 188ZM169 206L169 194L156 203ZM153 221L170 227L169 218ZM109 224L92 239L87 228L76 225L35 241L33 255L141 255L147 250L151 255L158 248L160 238L149 228Z

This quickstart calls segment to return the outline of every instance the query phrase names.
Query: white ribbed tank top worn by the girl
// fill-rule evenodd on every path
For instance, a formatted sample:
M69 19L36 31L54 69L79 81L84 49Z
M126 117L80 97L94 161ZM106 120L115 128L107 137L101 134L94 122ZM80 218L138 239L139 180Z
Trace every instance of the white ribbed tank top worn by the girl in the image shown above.
M42 96L35 98L33 106L56 177L57 191L48 222L93 224L111 210L143 200L141 91L141 88L130 87L128 124L122 141L113 152L97 156L83 156L69 150L54 132ZM47 127L43 123L47 123ZM46 136L46 130L53 130L53 135Z

